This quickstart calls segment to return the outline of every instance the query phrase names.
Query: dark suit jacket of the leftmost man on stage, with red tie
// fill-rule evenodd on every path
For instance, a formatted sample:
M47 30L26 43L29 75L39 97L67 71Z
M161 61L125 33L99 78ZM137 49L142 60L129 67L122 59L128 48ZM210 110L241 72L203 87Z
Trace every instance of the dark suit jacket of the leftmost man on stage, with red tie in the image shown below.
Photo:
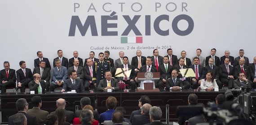
M16 82L16 73L14 69L9 69L8 78L6 77L5 69L0 71L0 82L2 81L12 81Z

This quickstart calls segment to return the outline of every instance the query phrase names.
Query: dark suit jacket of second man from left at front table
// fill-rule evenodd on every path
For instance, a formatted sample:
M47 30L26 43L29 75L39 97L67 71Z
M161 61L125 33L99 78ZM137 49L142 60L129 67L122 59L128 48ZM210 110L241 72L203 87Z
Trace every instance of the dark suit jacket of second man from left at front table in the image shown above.
M75 86L72 84L71 79L68 78L66 79L66 81L63 83L63 87L62 89L64 89L65 91L71 91L71 90L75 90L76 92L84 92L84 83L82 79L75 79Z

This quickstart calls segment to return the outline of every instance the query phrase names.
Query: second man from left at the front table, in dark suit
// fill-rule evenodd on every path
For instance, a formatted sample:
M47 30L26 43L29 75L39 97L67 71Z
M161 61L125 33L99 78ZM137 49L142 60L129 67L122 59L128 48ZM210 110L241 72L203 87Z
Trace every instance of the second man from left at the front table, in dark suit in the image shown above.
M82 79L77 78L77 73L75 72L75 70L71 70L69 72L69 77L70 78L66 79L66 81L63 83L61 92L71 90L75 90L78 93L84 92L84 81Z

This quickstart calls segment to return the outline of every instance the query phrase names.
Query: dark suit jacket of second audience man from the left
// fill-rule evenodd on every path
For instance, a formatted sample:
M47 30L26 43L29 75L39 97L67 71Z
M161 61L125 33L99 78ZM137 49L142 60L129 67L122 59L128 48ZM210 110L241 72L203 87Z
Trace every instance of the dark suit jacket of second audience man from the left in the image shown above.
M38 107L33 107L29 109L26 113L35 116L39 125L44 125L46 121L46 116L49 114L48 111L41 110Z

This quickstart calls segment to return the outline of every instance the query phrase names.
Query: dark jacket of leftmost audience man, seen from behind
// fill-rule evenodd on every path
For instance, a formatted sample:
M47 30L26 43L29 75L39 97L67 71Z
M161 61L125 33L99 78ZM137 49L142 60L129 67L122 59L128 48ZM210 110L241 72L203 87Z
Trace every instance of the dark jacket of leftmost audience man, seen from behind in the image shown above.
M39 125L35 116L31 116L31 115L27 114L26 112L20 112L20 113L24 113L24 115L26 116L27 125ZM8 125L14 125L13 120L14 120L14 115L9 116L9 118L8 118Z

